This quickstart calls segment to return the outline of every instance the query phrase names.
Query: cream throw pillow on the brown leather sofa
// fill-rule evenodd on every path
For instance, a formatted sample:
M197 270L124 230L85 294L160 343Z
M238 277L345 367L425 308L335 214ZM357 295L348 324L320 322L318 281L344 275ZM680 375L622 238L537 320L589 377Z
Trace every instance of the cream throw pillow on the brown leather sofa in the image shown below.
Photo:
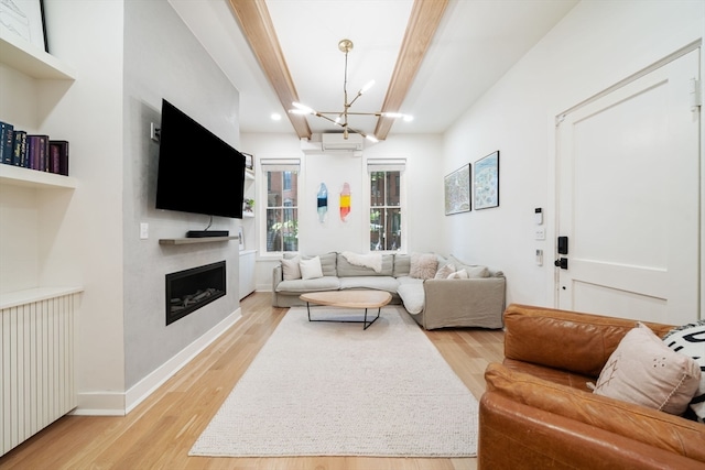
M681 415L699 381L701 369L692 358L672 351L649 327L639 324L609 357L595 393Z

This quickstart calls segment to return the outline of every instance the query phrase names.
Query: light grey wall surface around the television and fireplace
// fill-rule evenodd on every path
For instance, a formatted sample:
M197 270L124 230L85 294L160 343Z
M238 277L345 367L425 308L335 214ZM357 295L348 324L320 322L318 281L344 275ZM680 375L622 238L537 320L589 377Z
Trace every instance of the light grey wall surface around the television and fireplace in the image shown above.
M203 230L210 218L155 209L159 145L150 139L150 124L161 122L165 98L239 147L239 92L166 0L124 2L123 75L124 376L131 396L135 386L148 387L145 378L162 364L230 315L239 315L236 241L159 243L160 238L183 238L188 230ZM192 159L194 164L210 164L207 154ZM149 239L140 239L140 223L149 225ZM212 229L235 234L237 223L214 217ZM166 326L165 275L219 261L226 262L227 295Z

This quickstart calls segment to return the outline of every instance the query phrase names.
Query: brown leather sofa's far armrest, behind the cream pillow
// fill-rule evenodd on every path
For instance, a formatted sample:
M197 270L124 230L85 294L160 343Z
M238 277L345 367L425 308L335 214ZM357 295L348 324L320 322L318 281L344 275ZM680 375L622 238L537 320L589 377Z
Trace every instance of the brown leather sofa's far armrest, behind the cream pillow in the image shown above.
M597 376L636 320L512 304L505 311L505 357ZM673 328L646 323L663 337Z

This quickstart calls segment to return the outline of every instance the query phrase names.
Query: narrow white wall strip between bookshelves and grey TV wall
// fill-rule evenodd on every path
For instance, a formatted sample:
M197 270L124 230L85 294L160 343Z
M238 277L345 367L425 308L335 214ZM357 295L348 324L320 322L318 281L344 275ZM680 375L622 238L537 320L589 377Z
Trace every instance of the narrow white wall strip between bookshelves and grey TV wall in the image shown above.
M122 340L122 2L44 2L50 51L75 69L76 80L45 84L45 129L70 142L70 175L79 182L65 216L79 231L67 255L85 287L78 320L78 405L95 392L124 389ZM64 95L56 88L68 86ZM53 97L62 96L59 101ZM57 241L59 242L59 241ZM73 281L75 282L75 281ZM122 405L115 396L111 403Z

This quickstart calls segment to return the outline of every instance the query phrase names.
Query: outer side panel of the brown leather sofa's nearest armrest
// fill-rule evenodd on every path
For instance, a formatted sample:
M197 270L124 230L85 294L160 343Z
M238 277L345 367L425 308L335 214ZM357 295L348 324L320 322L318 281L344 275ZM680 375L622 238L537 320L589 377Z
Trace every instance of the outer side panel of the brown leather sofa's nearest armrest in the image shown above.
M487 392L478 466L495 469L701 469L703 462Z

